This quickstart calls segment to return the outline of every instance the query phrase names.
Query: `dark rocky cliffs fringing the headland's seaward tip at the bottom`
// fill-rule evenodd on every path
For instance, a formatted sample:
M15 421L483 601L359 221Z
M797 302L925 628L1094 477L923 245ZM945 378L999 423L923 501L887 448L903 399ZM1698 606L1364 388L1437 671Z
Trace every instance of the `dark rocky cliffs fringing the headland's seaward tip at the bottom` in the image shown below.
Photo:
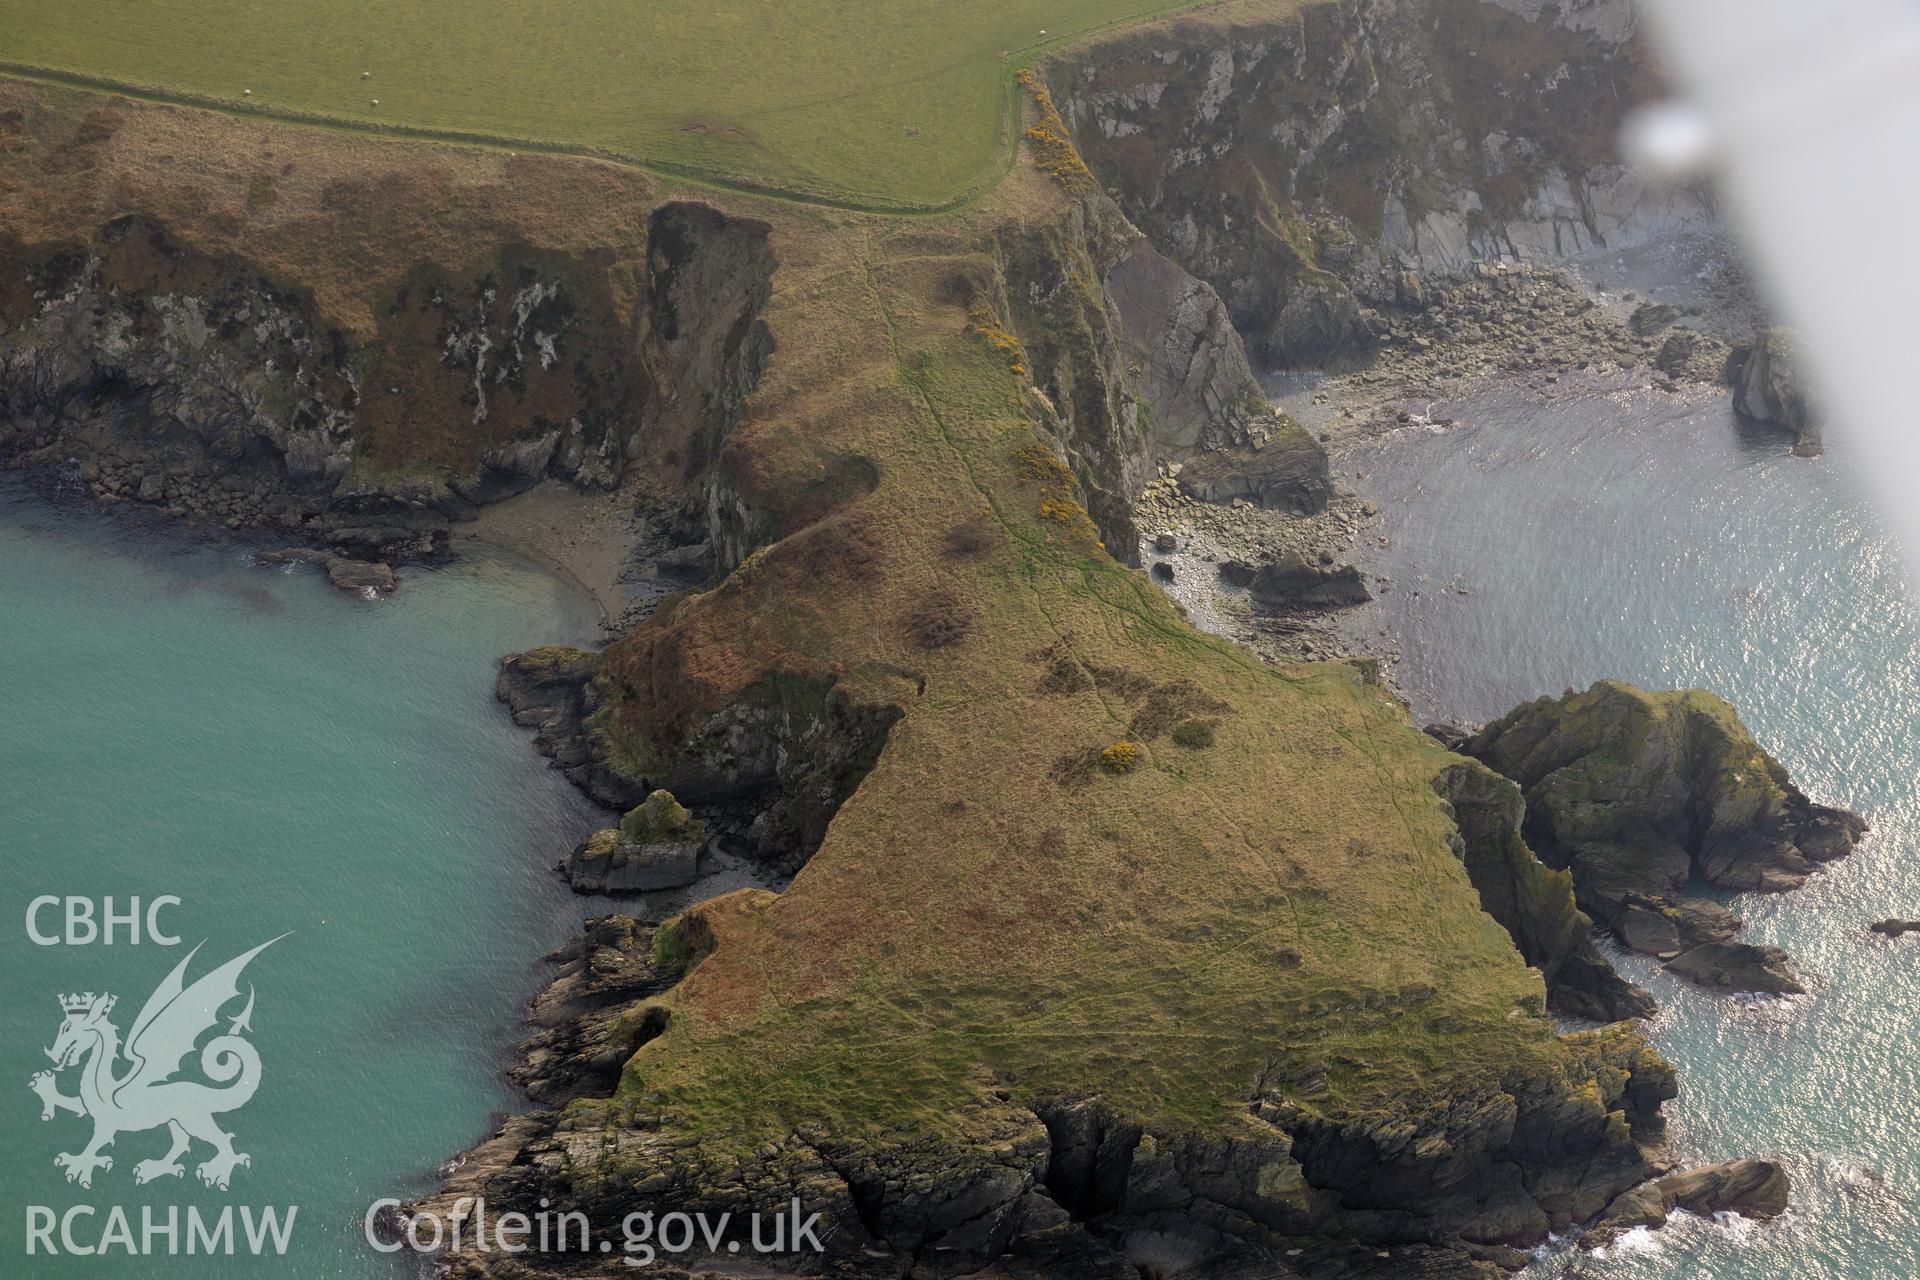
M559 975L534 1002L541 1031L513 1073L549 1107L580 1102L507 1121L424 1207L486 1196L493 1213L530 1213L547 1199L620 1221L636 1194L735 1215L797 1196L822 1213L835 1274L1498 1276L1524 1261L1509 1245L1596 1221L1665 1171L1672 1071L1626 1027L1569 1036L1565 1079L1505 1080L1377 1126L1329 1125L1254 1082L1244 1117L1213 1136L1154 1132L1098 1098L987 1098L941 1136L808 1126L741 1159L647 1107L593 1102L666 1027L668 988L712 950L714 929L766 896L718 898L659 931L589 921L551 958ZM455 1276L520 1274L501 1267L453 1259Z

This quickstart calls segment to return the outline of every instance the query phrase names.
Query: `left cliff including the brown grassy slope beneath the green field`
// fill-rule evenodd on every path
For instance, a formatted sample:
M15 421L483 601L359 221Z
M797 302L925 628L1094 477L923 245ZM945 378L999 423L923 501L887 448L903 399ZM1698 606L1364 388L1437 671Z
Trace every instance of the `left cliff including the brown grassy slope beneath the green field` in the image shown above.
M766 223L593 165L230 132L0 86L0 461L386 558L547 478L645 476L735 558L768 535L714 482L768 355Z

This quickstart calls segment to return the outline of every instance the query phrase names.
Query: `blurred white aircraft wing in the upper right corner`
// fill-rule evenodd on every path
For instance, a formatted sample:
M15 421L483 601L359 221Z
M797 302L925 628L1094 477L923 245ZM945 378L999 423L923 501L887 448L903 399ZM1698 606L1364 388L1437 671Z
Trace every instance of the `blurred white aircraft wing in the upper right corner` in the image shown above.
M1920 0L1644 0L1728 223L1920 555ZM1705 125L1697 129L1697 125Z

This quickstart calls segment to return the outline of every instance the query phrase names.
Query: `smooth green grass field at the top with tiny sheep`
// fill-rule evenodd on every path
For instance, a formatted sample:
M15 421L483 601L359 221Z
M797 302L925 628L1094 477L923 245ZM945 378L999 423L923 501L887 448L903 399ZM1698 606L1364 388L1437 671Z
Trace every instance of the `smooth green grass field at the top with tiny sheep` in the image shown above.
M1039 48L1190 2L0 0L0 61L912 209L995 173Z

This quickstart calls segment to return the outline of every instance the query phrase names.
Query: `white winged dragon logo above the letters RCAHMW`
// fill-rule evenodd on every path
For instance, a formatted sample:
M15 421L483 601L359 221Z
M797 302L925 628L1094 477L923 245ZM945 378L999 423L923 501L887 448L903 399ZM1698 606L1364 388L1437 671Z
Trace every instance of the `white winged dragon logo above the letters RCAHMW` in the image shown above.
M223 1111L244 1107L259 1088L259 1052L242 1038L242 1032L252 1031L252 984L246 1007L230 1021L227 1034L213 1036L200 1050L200 1071L225 1088L200 1080L175 1080L173 1075L194 1052L194 1042L219 1023L221 1006L240 998L240 971L278 940L261 942L186 986L186 965L200 954L196 946L148 996L140 1017L132 1019L125 1048L119 1029L108 1021L115 996L86 992L60 998L65 1019L60 1023L54 1048L46 1050L54 1059L54 1071L40 1071L27 1084L40 1096L42 1121L54 1119L56 1111L90 1115L94 1121L94 1138L83 1151L54 1157L54 1165L67 1171L67 1182L90 1188L96 1169L113 1169L113 1157L104 1155L104 1150L113 1146L115 1136L161 1125L173 1134L173 1148L159 1159L134 1165L134 1182L179 1178L184 1173L180 1157L192 1148L194 1138L213 1148L213 1157L196 1169L207 1186L225 1192L236 1165L253 1165L250 1155L234 1151L232 1134L213 1121ZM125 1073L115 1071L121 1057L131 1063ZM86 1059L81 1069L81 1092L69 1098L60 1092L54 1077L81 1059Z

